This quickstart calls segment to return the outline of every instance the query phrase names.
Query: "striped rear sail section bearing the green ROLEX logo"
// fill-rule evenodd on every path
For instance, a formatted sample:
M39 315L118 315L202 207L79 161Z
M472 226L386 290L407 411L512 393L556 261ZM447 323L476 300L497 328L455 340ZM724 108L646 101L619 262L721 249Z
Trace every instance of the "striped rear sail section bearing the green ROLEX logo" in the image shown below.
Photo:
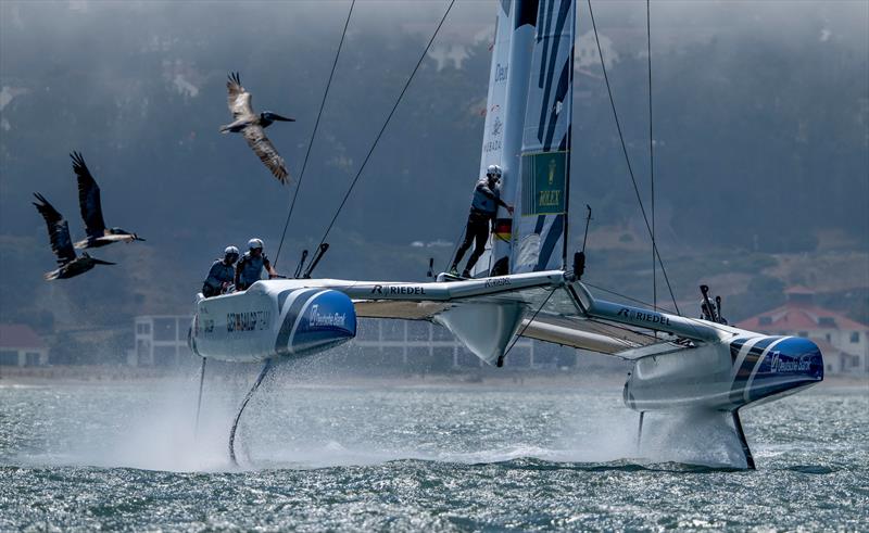
M525 110L512 272L564 268L570 176L574 0L541 0Z

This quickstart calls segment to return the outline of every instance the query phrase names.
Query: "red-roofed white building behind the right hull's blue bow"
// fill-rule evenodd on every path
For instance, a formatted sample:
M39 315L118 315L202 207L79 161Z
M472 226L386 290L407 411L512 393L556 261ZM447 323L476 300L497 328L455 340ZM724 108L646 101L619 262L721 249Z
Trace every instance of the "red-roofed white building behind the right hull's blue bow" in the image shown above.
M869 373L869 326L815 304L815 293L804 287L785 291L781 307L736 323L738 328L769 335L811 339L821 348L829 375Z

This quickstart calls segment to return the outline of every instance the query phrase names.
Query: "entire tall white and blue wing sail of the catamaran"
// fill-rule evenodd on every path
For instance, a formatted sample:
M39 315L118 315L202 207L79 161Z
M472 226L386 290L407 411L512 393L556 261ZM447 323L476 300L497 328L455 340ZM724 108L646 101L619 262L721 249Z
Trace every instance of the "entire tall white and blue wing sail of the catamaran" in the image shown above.
M575 10L574 0L500 4L480 175L499 164L516 211L499 211L475 277L565 266Z

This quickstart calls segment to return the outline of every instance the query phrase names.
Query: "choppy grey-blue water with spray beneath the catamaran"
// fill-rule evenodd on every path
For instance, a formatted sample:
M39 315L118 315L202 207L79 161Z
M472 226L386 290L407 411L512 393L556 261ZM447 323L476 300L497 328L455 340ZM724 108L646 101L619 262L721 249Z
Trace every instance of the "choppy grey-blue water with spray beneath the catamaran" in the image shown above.
M703 420L618 386L0 384L0 529L867 530L866 388L743 413L757 471ZM734 455L735 454L735 455ZM695 466L713 465L713 466Z

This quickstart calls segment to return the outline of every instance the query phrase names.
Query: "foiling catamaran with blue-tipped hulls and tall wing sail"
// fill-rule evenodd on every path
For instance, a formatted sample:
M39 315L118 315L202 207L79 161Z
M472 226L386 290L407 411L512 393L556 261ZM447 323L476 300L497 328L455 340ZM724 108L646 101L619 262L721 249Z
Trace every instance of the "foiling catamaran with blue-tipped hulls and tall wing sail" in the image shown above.
M639 434L648 411L723 414L744 468L754 459L739 410L823 379L811 341L727 326L705 290L704 318L689 318L600 300L580 279L584 255L568 264L575 13L574 0L498 2L480 168L502 167L515 212L500 212L474 279L263 280L199 295L190 346L203 375L205 358L264 364L232 424L234 460L238 419L272 363L353 339L357 317L440 323L496 366L517 335L630 360L624 402L640 414Z

